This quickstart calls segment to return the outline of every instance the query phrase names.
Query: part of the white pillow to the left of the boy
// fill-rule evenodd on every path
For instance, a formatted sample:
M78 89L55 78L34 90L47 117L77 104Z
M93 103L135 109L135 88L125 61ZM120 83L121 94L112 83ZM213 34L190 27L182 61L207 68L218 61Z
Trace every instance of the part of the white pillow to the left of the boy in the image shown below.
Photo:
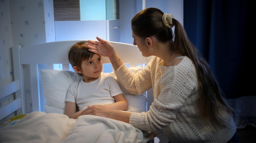
M81 76L71 71L51 69L41 69L40 74L46 101L45 112L64 114L67 90L74 81L81 79Z

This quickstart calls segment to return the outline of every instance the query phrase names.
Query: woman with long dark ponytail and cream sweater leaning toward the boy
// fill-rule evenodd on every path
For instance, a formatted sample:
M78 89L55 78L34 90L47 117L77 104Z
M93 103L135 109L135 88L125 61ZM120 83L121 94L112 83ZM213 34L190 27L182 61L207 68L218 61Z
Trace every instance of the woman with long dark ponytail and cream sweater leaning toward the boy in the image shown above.
M97 37L99 41L86 44L91 52L109 57L117 79L130 93L153 87L150 110L127 113L97 105L88 106L83 114L117 119L151 132L163 129L171 143L228 142L236 133L232 109L182 25L172 14L147 8L132 18L131 28L133 44L143 56L153 56L137 74L129 72L108 41Z

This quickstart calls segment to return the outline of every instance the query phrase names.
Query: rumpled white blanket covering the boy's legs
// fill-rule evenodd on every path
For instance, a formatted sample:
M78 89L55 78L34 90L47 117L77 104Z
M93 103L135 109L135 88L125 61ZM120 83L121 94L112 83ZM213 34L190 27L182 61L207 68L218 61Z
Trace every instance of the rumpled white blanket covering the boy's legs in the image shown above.
M0 128L0 143L146 143L153 134L114 119L83 115L70 119L57 113L32 112Z

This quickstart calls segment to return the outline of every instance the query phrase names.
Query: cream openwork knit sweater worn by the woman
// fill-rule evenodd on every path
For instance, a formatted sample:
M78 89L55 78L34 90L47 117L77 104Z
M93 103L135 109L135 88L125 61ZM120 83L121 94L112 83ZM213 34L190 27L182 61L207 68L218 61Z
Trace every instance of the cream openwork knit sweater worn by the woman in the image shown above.
M171 143L226 143L236 132L232 117L222 117L228 128L207 129L198 118L196 99L198 81L195 67L188 57L176 66L162 66L162 59L153 56L136 74L122 65L115 71L119 82L130 93L141 94L153 87L154 102L148 112L132 113L129 123L145 131L164 130Z

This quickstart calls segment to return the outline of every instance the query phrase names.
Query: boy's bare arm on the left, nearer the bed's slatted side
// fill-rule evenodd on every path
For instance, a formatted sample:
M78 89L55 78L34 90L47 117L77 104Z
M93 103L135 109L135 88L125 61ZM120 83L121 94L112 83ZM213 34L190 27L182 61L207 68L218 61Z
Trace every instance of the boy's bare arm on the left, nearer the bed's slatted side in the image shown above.
M76 112L76 103L67 101L65 115L69 118L77 119L81 115L81 111Z

